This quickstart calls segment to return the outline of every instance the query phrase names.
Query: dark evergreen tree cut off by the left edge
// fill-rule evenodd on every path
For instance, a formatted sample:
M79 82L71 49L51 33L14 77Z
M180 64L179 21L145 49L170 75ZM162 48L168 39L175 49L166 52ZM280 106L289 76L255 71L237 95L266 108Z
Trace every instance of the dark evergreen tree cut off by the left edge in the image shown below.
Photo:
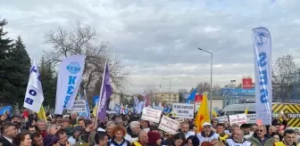
M0 21L0 102L6 103L13 96L12 88L14 87L10 80L13 61L10 59L12 55L12 39L6 37L7 32L4 30L7 25L6 20Z

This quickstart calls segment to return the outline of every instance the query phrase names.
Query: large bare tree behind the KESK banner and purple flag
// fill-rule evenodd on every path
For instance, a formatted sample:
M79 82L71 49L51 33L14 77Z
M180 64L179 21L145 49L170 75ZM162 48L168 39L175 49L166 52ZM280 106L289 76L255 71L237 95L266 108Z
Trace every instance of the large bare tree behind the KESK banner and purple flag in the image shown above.
M54 47L53 50L46 52L46 59L54 62L54 65L71 55L87 56L81 85L83 88L87 90L99 88L96 85L102 84L106 60L110 68L112 85L122 90L129 84L129 69L125 69L117 53L113 58L110 57L112 47L108 42L97 43L95 28L82 25L78 20L74 29L67 30L59 27L55 31L50 30L46 33L45 38L46 43Z

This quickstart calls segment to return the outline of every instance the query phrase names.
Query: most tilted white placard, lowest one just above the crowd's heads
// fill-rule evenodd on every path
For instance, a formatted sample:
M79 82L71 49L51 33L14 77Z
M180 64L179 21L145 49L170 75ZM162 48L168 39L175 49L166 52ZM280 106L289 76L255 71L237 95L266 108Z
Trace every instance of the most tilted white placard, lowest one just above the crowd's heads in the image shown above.
M179 121L163 116L158 128L169 134L176 134L179 130L179 126Z

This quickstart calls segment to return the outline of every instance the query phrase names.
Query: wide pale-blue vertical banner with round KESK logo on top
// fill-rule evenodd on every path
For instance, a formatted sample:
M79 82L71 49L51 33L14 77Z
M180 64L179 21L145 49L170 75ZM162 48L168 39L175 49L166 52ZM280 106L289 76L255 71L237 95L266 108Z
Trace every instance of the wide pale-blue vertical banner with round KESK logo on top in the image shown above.
M55 114L63 114L63 110L71 110L79 91L86 56L75 55L65 58L58 70Z

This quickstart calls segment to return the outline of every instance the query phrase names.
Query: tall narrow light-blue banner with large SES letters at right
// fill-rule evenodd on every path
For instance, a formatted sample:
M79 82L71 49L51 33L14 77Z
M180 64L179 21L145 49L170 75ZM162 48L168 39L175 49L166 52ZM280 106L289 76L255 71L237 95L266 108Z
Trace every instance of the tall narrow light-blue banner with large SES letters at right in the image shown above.
M253 33L256 119L271 125L271 34L267 28L254 28Z

